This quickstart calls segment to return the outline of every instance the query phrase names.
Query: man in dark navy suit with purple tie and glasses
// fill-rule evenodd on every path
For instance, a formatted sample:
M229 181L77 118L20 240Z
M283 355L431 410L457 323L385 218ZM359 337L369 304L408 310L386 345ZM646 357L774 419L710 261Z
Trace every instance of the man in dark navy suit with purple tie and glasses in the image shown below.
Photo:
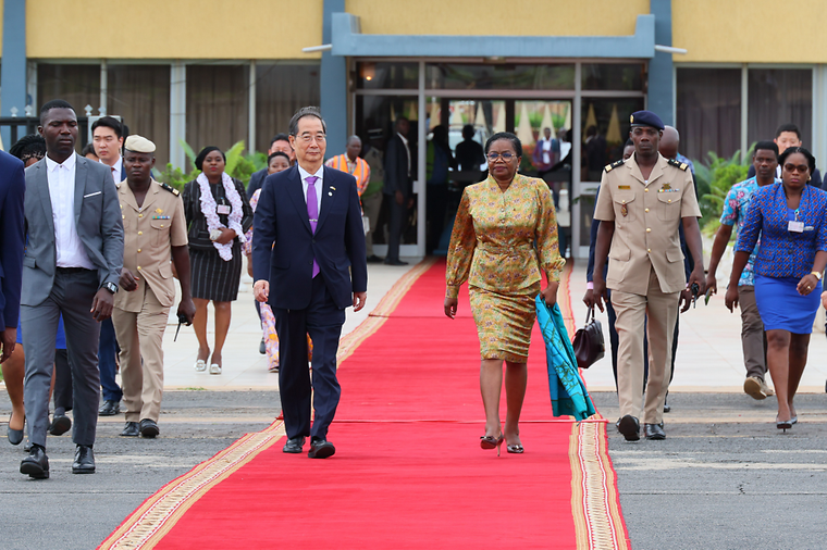
M296 165L267 177L252 232L254 292L273 309L279 334L279 386L287 432L283 450L300 453L309 436L311 459L336 452L328 441L328 428L342 392L336 379L338 338L345 308L361 310L368 296L356 179L324 166L325 132L318 109L301 108L293 115L289 138ZM313 342L312 383L307 335Z

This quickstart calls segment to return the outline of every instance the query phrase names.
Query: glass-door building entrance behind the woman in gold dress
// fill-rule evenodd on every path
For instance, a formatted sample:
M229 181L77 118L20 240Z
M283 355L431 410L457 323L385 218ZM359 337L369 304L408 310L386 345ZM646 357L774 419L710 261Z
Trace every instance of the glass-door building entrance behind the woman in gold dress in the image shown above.
M353 129L371 147L383 149L394 121L410 121L411 177L417 195L403 235L403 255L444 253L447 230L439 239L430 228L449 228L461 189L485 177L485 163L464 158L464 140L484 145L496 132L511 132L523 145L520 172L545 179L555 195L561 248L588 257L594 192L603 166L620 159L629 115L644 108L643 61L595 63L470 63L354 60ZM434 129L447 132L453 155L447 178L429 154ZM468 137L462 136L468 127ZM546 138L547 134L547 138ZM457 147L459 147L459 159ZM465 151L462 151L465 149ZM459 162L462 161L462 162ZM434 180L434 168L436 179ZM445 184L445 223L429 216L430 185ZM446 180L445 180L446 179ZM431 188L432 191L436 190ZM432 196L434 193L432 192ZM433 209L433 200L431 209ZM386 210L386 209L383 209ZM373 235L384 252L384 215ZM434 240L440 245L434 246Z

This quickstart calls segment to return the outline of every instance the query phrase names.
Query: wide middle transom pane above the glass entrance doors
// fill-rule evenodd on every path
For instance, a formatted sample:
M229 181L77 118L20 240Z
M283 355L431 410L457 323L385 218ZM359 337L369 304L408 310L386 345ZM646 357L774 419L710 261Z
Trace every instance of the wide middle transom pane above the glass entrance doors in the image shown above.
M575 65L425 66L425 88L452 90L573 90Z

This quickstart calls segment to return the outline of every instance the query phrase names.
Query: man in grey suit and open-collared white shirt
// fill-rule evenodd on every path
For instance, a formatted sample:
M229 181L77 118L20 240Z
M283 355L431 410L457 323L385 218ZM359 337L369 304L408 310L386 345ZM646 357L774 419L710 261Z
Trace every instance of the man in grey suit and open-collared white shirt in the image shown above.
M123 265L123 223L107 166L75 153L77 116L63 100L40 109L46 158L26 168L21 328L32 451L20 471L49 477L46 432L58 317L63 314L74 389L73 474L95 473L100 322L112 314Z

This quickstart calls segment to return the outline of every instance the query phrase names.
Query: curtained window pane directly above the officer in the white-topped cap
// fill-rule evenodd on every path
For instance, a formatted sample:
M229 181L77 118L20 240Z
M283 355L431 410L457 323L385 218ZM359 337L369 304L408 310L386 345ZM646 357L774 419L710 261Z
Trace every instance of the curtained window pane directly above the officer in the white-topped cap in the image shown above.
M170 158L170 65L109 65L108 113L120 115L129 134L156 145L156 166Z

